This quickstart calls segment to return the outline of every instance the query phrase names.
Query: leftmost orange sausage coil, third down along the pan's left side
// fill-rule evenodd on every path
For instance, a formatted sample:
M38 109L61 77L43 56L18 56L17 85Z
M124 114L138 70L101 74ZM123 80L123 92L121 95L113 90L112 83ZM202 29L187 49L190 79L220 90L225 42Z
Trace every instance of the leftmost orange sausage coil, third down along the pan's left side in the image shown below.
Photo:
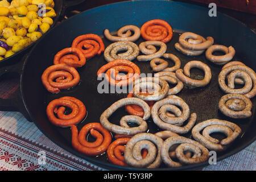
M75 68L66 64L55 64L48 67L41 77L44 87L51 93L68 89L79 84L80 75Z

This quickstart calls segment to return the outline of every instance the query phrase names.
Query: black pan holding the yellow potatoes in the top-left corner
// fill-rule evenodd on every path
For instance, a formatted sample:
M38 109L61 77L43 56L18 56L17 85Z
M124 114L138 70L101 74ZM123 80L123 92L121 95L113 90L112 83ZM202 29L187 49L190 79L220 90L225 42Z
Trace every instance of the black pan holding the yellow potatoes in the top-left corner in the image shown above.
M75 0L75 1L54 0L55 6L54 6L53 9L55 10L56 16L53 19L53 24L51 25L51 28L49 30L51 30L55 26L57 21L64 18L65 11L67 9L70 9L73 6L79 5L82 2L84 2L84 0ZM36 42L39 42L39 41L40 41L40 39L37 40ZM22 51L19 51L19 52L15 53L14 55L1 60L0 61L0 67L3 67L5 65L11 65L11 64L14 64L17 61L22 60L22 57L31 50L31 48L32 48L32 46L34 46L34 44L35 43L33 43L30 46L24 48Z

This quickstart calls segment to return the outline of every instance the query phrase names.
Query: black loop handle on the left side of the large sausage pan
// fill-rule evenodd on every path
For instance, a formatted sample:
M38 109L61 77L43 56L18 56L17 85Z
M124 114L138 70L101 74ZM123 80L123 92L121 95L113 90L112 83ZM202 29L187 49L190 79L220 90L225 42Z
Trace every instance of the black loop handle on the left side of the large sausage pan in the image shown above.
M6 79L6 78L12 78L12 77L18 77L20 78L24 60L26 60L27 55L23 57L21 61L18 61L18 63L14 65L6 65L4 67L0 68L0 80ZM20 79L19 79L20 80ZM14 97L12 98L0 98L0 110L1 111L19 111L23 114L23 116L28 120L32 121L30 118L26 107L23 104L21 92L20 92L20 86L18 86L18 89L16 89L14 93Z

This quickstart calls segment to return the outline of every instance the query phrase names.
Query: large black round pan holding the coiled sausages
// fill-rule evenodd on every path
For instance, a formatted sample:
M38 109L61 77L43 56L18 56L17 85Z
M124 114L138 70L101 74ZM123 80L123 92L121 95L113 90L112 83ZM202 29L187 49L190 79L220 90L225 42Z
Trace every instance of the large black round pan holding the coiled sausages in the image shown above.
M20 74L19 97L13 100L2 100L1 102L5 105L2 109L19 110L57 145L98 166L108 169L135 169L133 167L119 167L110 164L105 154L97 157L80 154L76 150L73 150L71 146L71 130L68 127L55 127L47 119L46 106L49 101L63 96L73 96L84 102L88 110L86 119L77 125L80 130L86 123L99 122L100 115L105 109L113 104L113 102L127 96L125 93L100 94L97 92L97 86L100 81L97 80L96 73L102 65L106 64L103 55L87 60L84 67L77 69L81 76L80 84L75 86L75 88L62 90L59 94L48 93L44 89L40 77L43 71L53 64L53 56L56 52L70 47L73 39L77 36L89 33L102 35L105 28L109 28L113 32L127 24L134 24L141 27L143 23L151 19L166 20L174 28L174 37L167 44L167 52L174 53L180 58L182 68L189 60L200 60L208 64L212 70L213 77L209 85L197 89L190 89L186 86L178 94L178 96L188 103L191 112L197 113L197 123L206 119L220 118L237 123L242 129L242 134L236 142L228 150L217 154L217 160L227 158L252 143L256 137L255 98L252 99L254 106L253 115L250 118L231 119L222 115L217 107L218 101L224 95L218 87L217 82L221 67L210 64L204 55L196 57L182 55L175 50L174 43L177 42L180 33L184 31L195 32L204 37L212 36L215 44L233 46L236 49L236 56L233 60L241 60L247 66L256 70L256 35L250 28L224 14L218 13L217 17L209 17L208 9L180 2L129 1L113 3L85 11L65 20L65 22L59 24L52 31L48 32L48 34L44 35L44 38L31 50L23 65L12 67L13 71ZM108 46L110 42L104 36L102 38L105 46ZM135 43L139 44L143 41L141 38ZM142 73L151 73L148 62L141 63L134 60L134 63L141 68ZM22 69L17 71L17 67L22 67ZM192 76L198 74L203 73L197 69L192 69ZM123 115L127 115L125 109L119 109L110 117L110 121L118 123ZM151 119L148 120L148 129L151 133L159 131ZM185 137L191 137L191 133L186 134ZM222 136L217 135L217 137ZM180 168L168 168L163 165L159 169L194 169L205 165L208 165L208 162Z

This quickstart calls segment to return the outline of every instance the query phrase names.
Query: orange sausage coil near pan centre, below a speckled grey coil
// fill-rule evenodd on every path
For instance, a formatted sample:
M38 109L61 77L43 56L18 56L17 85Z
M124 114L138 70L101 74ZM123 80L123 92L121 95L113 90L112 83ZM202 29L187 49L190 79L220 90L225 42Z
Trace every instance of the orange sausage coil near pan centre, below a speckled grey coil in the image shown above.
M119 72L127 72L127 75L119 75ZM126 86L139 78L141 71L139 67L131 61L117 59L102 66L98 72L98 77L103 77L106 73L106 80L110 85Z

